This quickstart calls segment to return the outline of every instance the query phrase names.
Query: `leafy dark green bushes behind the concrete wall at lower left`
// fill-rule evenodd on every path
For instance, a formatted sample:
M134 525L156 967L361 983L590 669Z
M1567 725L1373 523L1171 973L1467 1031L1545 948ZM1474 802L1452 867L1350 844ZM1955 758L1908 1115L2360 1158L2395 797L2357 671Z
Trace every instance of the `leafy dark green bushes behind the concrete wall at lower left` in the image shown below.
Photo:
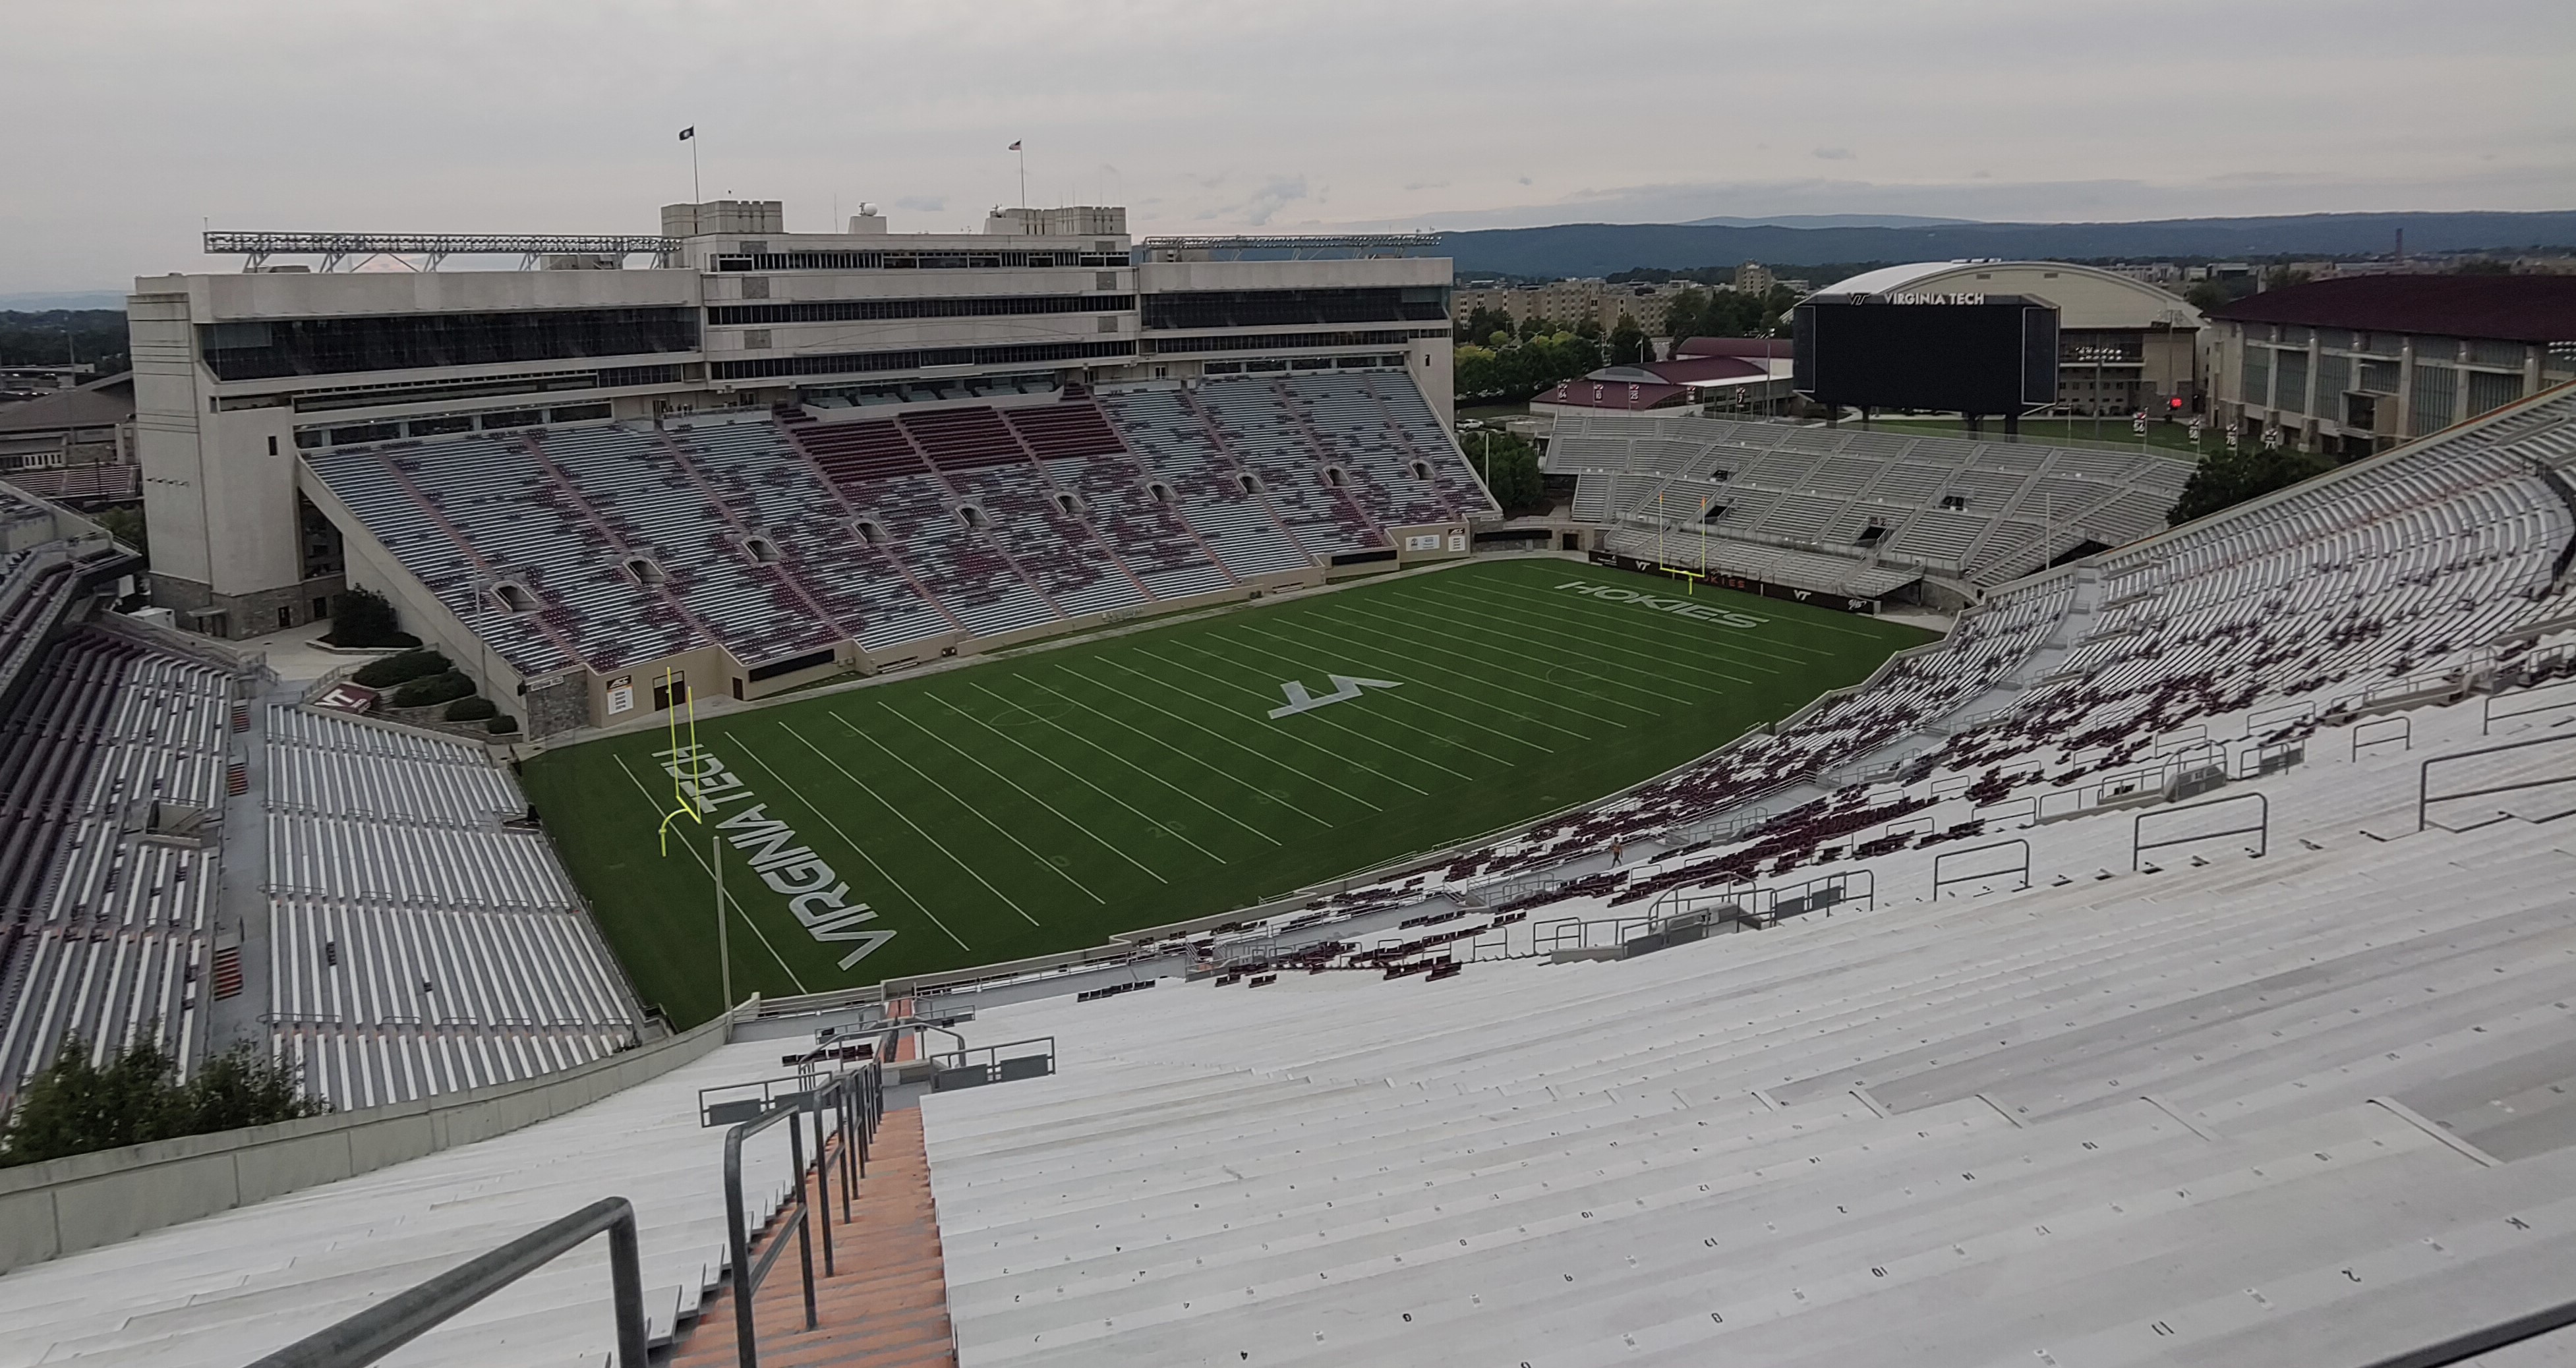
M90 1061L90 1046L64 1038L54 1061L18 1095L18 1110L0 1134L0 1167L265 1126L325 1110L322 1103L296 1095L291 1067L252 1054L247 1043L216 1054L188 1082L178 1082L175 1074L170 1059L149 1041L137 1041L98 1067Z

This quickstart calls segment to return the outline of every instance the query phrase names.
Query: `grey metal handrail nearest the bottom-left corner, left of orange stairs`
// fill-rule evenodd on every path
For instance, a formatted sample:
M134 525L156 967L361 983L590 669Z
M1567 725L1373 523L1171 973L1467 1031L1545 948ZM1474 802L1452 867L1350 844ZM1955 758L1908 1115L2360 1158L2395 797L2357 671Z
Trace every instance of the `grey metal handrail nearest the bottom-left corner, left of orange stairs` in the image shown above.
M412 1291L317 1329L250 1368L361 1368L464 1314L477 1301L518 1283L608 1231L608 1278L618 1316L618 1368L644 1368L644 1265L636 1252L636 1208L626 1198L600 1198L572 1216L549 1221L500 1249L477 1255Z

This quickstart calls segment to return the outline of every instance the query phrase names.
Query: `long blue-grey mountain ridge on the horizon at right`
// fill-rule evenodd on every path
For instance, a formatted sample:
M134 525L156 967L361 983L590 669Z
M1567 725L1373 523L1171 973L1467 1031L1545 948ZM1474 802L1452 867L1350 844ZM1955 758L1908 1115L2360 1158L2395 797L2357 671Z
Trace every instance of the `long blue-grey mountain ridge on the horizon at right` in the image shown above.
M1978 224L1909 222L1814 227L1698 224L1556 224L1445 234L1461 276L1607 276L1633 265L1695 268L1744 260L1814 265L1834 260L2169 260L2388 252L2406 229L2409 252L2486 247L2576 247L2576 211L2548 214L2293 214L2280 219L2156 219L2143 224ZM1857 216L1868 219L1868 216ZM1824 283L1824 281L1816 281Z

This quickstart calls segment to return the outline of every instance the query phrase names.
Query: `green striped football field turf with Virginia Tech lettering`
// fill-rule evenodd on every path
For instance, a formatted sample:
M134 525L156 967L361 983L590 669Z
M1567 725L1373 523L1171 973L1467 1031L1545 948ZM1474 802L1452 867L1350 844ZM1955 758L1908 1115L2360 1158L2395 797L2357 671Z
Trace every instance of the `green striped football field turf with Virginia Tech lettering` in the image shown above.
M750 873L757 850L726 845L734 994L873 984L1097 945L1610 793L1924 639L1589 564L1479 562L706 719L698 745L747 793L711 791L670 855L662 732L551 750L526 786L644 1000L696 1023L721 1000L708 840L747 822L793 827L778 850L809 848L876 912L840 930L894 938L842 969L855 945L814 940ZM1285 680L1329 696L1327 675L1396 688L1267 716ZM827 902L806 912L832 927Z

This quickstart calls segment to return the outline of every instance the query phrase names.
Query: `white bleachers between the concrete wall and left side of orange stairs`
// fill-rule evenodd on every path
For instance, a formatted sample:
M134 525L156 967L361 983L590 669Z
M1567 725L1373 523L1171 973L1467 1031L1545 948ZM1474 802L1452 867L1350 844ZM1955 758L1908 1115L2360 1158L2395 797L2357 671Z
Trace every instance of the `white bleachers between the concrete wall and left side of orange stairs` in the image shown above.
M0 1365L250 1363L611 1193L636 1208L662 1345L726 1260L724 1131L698 1128L696 1095L775 1072L775 1043L724 1046L523 1131L10 1270ZM742 1154L755 1231L793 1190L783 1136L765 1141ZM793 1262L773 1273L793 1275ZM605 1242L592 1239L381 1363L608 1363L608 1304Z

